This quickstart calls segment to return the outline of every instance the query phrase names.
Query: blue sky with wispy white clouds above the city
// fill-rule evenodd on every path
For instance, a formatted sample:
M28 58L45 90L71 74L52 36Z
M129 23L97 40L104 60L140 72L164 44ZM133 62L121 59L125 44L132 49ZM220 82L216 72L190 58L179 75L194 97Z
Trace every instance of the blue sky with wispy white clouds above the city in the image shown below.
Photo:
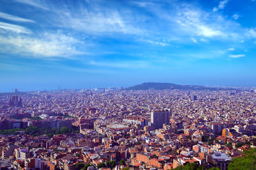
M256 85L255 0L0 1L0 91Z

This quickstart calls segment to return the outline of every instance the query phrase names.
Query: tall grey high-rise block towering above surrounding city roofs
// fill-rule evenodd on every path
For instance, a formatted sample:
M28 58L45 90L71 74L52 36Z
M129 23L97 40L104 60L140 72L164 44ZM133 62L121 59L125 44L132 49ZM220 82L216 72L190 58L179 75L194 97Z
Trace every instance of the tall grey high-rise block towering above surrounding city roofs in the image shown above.
M170 125L171 110L151 112L151 125L155 129L163 128L163 125Z

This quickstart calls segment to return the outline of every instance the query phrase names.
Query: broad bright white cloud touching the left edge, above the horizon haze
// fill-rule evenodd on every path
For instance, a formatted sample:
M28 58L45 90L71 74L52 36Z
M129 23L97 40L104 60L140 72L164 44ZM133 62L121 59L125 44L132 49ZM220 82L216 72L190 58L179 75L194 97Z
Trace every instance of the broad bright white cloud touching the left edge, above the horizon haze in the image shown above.
M0 44L7 50L22 56L33 56L35 58L71 58L81 54L76 50L78 40L61 33L44 33L38 38L31 36L9 35L0 36Z

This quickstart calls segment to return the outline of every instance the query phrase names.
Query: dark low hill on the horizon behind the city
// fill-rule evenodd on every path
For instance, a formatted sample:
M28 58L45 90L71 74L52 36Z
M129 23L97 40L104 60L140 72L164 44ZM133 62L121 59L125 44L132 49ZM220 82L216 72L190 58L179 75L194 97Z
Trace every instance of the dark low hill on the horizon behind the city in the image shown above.
M143 84L135 85L126 90L147 90L147 89L209 89L218 90L220 88L206 88L204 86L194 86L194 85L179 85L172 83L162 83L162 82L144 82Z

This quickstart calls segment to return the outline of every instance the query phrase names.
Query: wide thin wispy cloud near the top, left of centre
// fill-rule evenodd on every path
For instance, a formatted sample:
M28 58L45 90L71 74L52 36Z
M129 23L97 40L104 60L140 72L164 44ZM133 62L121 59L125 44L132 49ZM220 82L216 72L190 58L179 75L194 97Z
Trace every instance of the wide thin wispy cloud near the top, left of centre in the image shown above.
M138 35L143 33L133 23L134 17L131 13L121 14L117 10L79 10L60 11L60 24L64 27L70 27L76 31L90 34L100 33L124 33ZM58 21L57 21L58 22Z

